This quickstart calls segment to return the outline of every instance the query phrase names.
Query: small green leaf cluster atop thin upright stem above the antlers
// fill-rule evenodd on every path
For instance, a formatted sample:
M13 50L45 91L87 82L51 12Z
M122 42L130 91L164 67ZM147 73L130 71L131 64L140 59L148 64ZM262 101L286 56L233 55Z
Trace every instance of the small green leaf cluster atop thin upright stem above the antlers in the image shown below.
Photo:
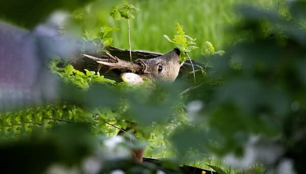
M129 4L127 1L122 1L123 7L119 8L118 6L114 7L111 10L111 16L115 20L123 19L134 19L135 16L131 13L133 11L139 11L138 8L134 7L132 4Z

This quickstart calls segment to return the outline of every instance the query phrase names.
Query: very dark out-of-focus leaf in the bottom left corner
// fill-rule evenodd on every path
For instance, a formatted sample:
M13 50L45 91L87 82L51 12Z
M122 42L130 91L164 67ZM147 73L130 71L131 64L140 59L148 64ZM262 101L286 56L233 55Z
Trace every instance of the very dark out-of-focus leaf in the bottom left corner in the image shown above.
M0 152L6 159L2 162L2 171L41 173L52 163L72 165L91 155L95 146L86 125L70 124L49 132L34 131L31 136L2 141Z

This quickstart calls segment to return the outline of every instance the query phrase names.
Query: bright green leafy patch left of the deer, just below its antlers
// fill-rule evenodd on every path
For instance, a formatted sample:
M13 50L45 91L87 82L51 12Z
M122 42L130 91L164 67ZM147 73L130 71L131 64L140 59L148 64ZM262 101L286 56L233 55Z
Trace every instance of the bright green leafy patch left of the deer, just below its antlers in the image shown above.
M102 84L115 84L116 81L110 80L107 78L104 78L104 76L101 76L99 72L94 71L88 71L84 69L84 72L81 72L79 70L75 70L72 65L67 65L63 68L57 67L57 64L59 62L52 61L50 63L50 69L53 71L53 73L57 73L59 76L61 76L65 81L69 81L70 83L73 83L83 90L87 90L89 88L89 85L92 83L102 83Z

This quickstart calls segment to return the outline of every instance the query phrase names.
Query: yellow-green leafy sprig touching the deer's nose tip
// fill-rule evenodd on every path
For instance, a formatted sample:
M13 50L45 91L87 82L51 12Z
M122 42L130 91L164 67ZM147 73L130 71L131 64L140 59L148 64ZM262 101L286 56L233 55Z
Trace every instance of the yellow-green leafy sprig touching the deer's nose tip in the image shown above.
M185 62L188 59L187 53L190 51L198 48L195 45L195 39L191 38L188 35L185 35L185 32L183 31L183 26L179 23L176 23L175 25L175 31L177 35L173 36L173 39L171 40L167 35L164 35L164 37L169 41L176 45L177 48L181 50L180 54L180 61Z

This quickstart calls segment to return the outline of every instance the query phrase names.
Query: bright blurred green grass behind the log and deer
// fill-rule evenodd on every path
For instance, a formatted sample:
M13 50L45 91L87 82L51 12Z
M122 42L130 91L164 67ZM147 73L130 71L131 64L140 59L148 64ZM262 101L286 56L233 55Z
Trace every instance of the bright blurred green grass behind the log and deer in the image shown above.
M187 35L197 38L196 46L200 49L191 53L193 59L196 59L205 41L210 41L216 50L222 50L238 40L238 36L228 33L228 28L239 20L235 9L238 4L264 7L276 12L278 0L138 0L129 2L140 9L134 13L135 19L131 20L132 49L167 52L174 45L163 35L166 34L172 38L175 34L175 23L179 22L184 26ZM108 25L120 28L120 31L111 34L114 45L119 48L129 48L127 20L114 21L109 16L110 8L119 5L121 1L100 3L100 5L92 6L98 11L99 16L96 26Z

